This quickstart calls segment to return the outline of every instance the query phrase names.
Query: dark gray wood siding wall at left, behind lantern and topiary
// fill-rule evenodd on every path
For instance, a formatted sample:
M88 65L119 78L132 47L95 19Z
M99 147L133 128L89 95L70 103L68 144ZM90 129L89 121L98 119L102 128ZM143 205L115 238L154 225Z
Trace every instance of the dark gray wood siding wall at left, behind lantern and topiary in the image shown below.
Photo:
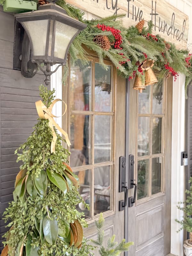
M26 141L38 118L35 101L44 76L24 78L13 70L14 17L0 7L0 249L7 230L2 213L12 201L19 166L15 149Z

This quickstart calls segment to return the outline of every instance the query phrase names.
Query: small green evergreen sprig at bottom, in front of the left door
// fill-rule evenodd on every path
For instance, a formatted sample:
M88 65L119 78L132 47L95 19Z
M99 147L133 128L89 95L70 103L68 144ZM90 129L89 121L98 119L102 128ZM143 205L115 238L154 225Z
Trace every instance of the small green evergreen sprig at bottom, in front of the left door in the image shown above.
M97 240L92 240L92 243L99 247L99 253L101 256L118 256L121 252L126 252L129 250L129 247L133 245L133 242L125 242L123 239L119 244L115 241L115 235L110 237L107 242L107 248L104 247L104 231L102 230L104 225L104 218L102 212L98 221L95 221L97 228Z

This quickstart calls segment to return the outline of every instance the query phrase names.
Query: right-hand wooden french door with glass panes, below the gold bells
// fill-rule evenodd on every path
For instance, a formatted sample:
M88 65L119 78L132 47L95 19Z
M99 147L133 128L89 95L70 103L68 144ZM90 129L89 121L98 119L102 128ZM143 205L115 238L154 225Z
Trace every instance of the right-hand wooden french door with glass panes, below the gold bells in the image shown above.
M166 256L171 249L172 82L147 86L142 93L129 84L129 148L134 155L136 202L126 209L130 256ZM133 196L129 190L129 196Z

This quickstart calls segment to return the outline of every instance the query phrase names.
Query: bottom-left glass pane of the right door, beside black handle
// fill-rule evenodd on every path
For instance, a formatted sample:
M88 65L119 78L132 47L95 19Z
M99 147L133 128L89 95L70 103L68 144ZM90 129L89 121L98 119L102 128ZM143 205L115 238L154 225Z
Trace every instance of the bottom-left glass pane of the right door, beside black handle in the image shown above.
M148 196L149 159L138 161L137 199Z

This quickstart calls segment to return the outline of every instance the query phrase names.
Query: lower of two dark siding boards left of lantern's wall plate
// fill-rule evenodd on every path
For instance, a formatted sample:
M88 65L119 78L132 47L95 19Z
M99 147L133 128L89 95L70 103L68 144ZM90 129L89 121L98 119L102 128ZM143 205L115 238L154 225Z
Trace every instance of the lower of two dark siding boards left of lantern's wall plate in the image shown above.
M1 52L0 67L12 69L13 68L13 43L0 39L0 52ZM1 78L1 75L0 75L0 78Z

